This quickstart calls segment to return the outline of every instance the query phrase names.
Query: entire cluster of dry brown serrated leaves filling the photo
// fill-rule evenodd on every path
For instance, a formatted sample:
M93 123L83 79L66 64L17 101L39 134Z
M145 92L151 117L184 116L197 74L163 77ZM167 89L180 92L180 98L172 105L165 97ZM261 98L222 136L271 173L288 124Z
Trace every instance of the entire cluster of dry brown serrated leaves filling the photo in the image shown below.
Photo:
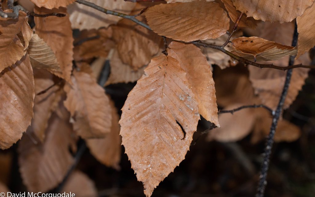
M200 115L221 125L209 134L210 140L236 141L253 131L252 142L257 142L267 135L271 116L264 109L218 117L217 98L225 109L253 103L274 109L285 72L249 67L247 74L235 67L213 79L211 65L224 69L237 62L212 49L177 41L223 44L226 31L243 12L246 15L239 23L243 28L226 46L238 56L287 66L288 56L297 54L297 61L308 64L306 52L315 45L310 31L315 25L314 0L90 0L130 15L145 9L136 18L152 31L74 0L31 2L37 14L67 15L35 17L33 30L22 11L17 19L0 18L0 148L11 147L27 130L19 143L19 162L30 191L46 192L63 180L74 162L70 150L76 152L78 137L96 159L116 169L122 142L150 196L185 158ZM297 48L289 46L295 18ZM75 38L73 29L80 30ZM242 32L251 37L239 37ZM169 42L167 55L160 53L161 36L177 40ZM106 85L137 81L120 120L111 98L97 83L106 60L111 65ZM285 108L295 100L307 72L294 70ZM298 127L282 119L275 139L293 141L299 135ZM73 191L77 184L86 187L85 195L96 196L93 183L81 172L72 174L64 190Z

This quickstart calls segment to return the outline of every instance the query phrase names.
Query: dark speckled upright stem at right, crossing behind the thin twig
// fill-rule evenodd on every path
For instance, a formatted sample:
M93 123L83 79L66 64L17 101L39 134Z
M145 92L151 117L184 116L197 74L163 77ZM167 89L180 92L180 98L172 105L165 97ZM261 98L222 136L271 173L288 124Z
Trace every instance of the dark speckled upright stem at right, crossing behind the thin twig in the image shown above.
M295 22L295 30L294 30L294 34L293 34L292 46L296 46L297 38L298 38L298 32L297 32L297 25ZM294 64L294 58L295 58L295 56L290 56L289 66ZM292 69L289 69L287 72L286 78L285 78L284 87L282 90L280 101L278 103L278 106L277 106L275 113L273 114L272 124L270 127L270 132L269 132L269 135L267 138L266 147L265 147L265 151L264 151L264 160L261 164L261 172L260 172L261 174L259 177L260 179L258 182L256 197L263 197L265 194L265 188L267 185L266 178L267 178L267 173L268 173L268 168L269 168L269 163L270 163L271 149L272 149L272 145L274 142L273 138L274 138L274 135L275 135L275 132L277 129L278 120L279 120L279 117L280 117L281 112L282 112L284 101L285 101L285 98L286 98L288 90L289 90L289 84L290 84L291 76L292 76Z

